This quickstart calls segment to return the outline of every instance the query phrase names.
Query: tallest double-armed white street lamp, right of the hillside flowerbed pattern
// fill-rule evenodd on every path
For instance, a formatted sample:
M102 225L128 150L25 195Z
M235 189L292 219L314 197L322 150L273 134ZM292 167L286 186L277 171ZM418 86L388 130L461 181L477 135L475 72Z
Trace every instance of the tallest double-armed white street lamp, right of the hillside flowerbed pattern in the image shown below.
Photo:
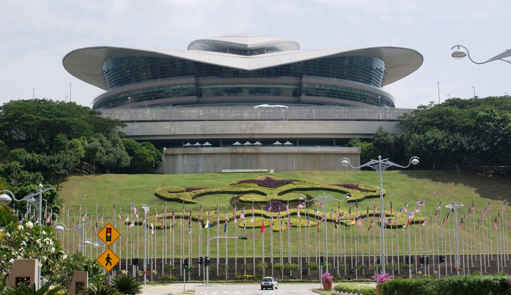
M348 158L341 159L341 165L344 167L346 167L347 165L350 165L353 169L358 169L358 168L362 168L362 167L370 167L370 168L373 168L376 171L378 171L378 174L380 176L380 235L381 235L381 238L380 238L380 261L382 263L382 274L385 274L385 262L386 262L385 245L384 245L384 242L385 242L384 234L385 233L383 231L385 222L384 222L383 216L382 216L382 214L383 214L382 172L385 171L388 167L396 166L396 167L400 167L400 168L408 168L411 164L413 164L413 165L419 164L419 158L411 157L410 162L408 163L407 166L401 166L401 165L398 165L396 163L389 161L388 159L382 160L382 157L378 156L378 160L370 160L369 162L367 162L361 166L358 166L358 167L354 167L351 164L350 159L348 159Z

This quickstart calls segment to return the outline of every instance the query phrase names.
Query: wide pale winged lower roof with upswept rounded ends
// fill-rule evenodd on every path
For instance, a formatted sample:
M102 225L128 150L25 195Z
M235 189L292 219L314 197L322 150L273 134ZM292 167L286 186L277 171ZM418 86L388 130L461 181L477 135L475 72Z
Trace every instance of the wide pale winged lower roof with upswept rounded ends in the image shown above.
M375 57L385 62L385 81L382 86L396 82L418 69L424 59L412 49L403 47L367 47L356 49L283 51L253 56L197 51L197 50L142 50L122 47L86 47L68 53L62 60L64 68L76 78L107 90L102 76L103 62L119 57L172 57L241 70L257 70L306 60L341 57Z

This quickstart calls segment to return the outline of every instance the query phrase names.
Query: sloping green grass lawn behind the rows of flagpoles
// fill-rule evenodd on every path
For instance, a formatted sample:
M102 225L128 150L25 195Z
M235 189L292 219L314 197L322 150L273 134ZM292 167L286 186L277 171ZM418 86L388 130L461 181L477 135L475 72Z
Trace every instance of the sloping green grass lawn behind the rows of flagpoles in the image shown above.
M65 203L65 211L67 209L70 209L70 216L73 218L75 215L75 218L78 223L78 208L81 204L82 206L82 214L85 211L85 208L87 209L87 212L94 213L96 204L98 204L98 215L101 216L102 212L105 214L105 224L107 222L106 216L112 216L112 207L113 204L115 204L116 209L116 215L118 215L119 210L122 210L122 219L124 220L126 217L126 213L130 214L130 220L133 219L132 211L130 211L130 206L133 203L135 207L137 207L139 210L141 210L141 206L143 204L149 204L150 205L150 213L149 216L151 216L150 220L153 219L154 216L154 210L158 212L158 214L161 214L164 211L165 207L165 201L162 201L158 199L154 195L154 191L158 187L162 186L179 186L183 188L214 188L214 187L222 187L226 186L230 183L234 183L240 180L245 179L253 179L255 177L265 175L263 173L233 173L233 174L188 174L188 175L117 175L117 174L110 174L110 175L95 175L95 176L73 176L70 177L68 181L63 182L60 186L59 196L60 200ZM282 177L284 179L297 179L297 180L305 180L305 181L313 181L318 182L320 184L371 184L371 185L379 185L379 177L378 173L376 171L307 171L307 172L291 172L291 173L274 173L272 175ZM467 173L467 172L458 172L458 171L419 171L419 170L393 170L393 171L384 171L383 173L383 188L386 190L386 195L384 196L384 206L387 208L387 215L389 212L389 201L392 201L393 204L393 212L394 214L399 211L401 206L403 206L406 202L408 202L408 211L413 210L415 208L415 202L420 200L425 200L425 207L421 207L421 217L424 217L424 211L427 212L428 217L430 217L430 214L434 214L434 209L438 205L440 201L442 201L442 211L443 211L443 217L445 217L447 210L445 208L445 205L453 202L454 200L458 200L458 203L465 204L466 207L460 209L460 214L467 213L468 207L470 204L472 204L472 201L474 201L476 213L477 216L481 215L481 210L487 206L489 202L491 202L492 206L492 213L491 213L491 219L489 220L489 223L493 224L493 219L497 215L497 211L501 212L502 209L502 202L504 199L508 198L508 192L511 188L511 183L508 179L504 179L501 177L488 177L488 176L478 176L475 173ZM306 193L310 194L311 196L316 196L318 194L323 194L324 191L306 191ZM326 192L327 194L332 195L334 198L342 199L344 195L340 193L331 193ZM192 208L194 213L198 213L198 210L200 208L200 204L202 203L202 207L204 209L203 211L203 219L207 216L207 210L211 210L212 215L212 224L215 225L215 210L217 203L220 207L220 214L224 214L225 210L229 212L229 214L232 212L232 207L229 204L229 199L233 195L227 195L227 194L217 194L217 195L208 195L208 196L201 196L200 198L194 199L197 201L197 204L185 204L186 211L189 212L190 208ZM369 212L372 211L373 208L373 202L376 203L376 206L379 210L379 198L376 199L368 199L364 200L362 202L359 202L359 212L363 211L365 212L366 208L369 207ZM509 201L506 201L509 203ZM172 212L172 209L177 212L182 211L182 204L176 203L176 202L167 202L167 210L169 213ZM352 211L354 212L354 203L340 203L341 209L347 210L346 207L351 206ZM310 208L310 207L308 207ZM334 211L337 209L337 202L331 201L328 203L327 212L331 212L331 208L334 209ZM258 208L256 208L258 209ZM104 211L103 211L104 210ZM320 209L321 210L321 209ZM142 211L142 210L141 210ZM238 213L241 211L241 208L238 207ZM322 211L322 210L321 210ZM243 228L238 227L236 229L236 235L246 235L248 236L248 240L246 241L239 241L235 239L229 239L227 244L225 243L224 239L221 239L218 245L218 251L220 256L225 256L225 248L227 247L229 249L228 256L233 257L235 256L235 247L237 250L238 257L241 257L244 255L244 247L243 245L246 245L246 255L247 257L251 257L253 253L253 247L255 247L255 256L261 256L262 255L262 243L261 243L261 237L262 234L260 232L260 228L255 228L255 230L252 232L252 225L249 223L249 219L251 217L250 208L245 208L246 212L246 232L243 234ZM502 214L502 213L501 213ZM418 215L418 214L417 214ZM417 216L416 215L416 216ZM475 225L477 224L477 216L472 218L470 220L466 220L465 224L465 232L467 232L468 227L475 228ZM142 217L142 216L141 216ZM87 217L89 218L89 217ZM93 217L96 218L96 217ZM116 251L118 255L121 255L121 258L126 257L126 225L120 225L118 216L115 216L117 218L117 228L121 232L122 236L121 239L116 241L114 243L115 248L121 248L121 252L119 253L119 250ZM256 219L260 217L256 216ZM296 216L292 216L292 218L296 218ZM304 216L302 216L304 219ZM507 217L506 217L507 218ZM142 219L142 218L141 218ZM59 219L60 221L61 219ZM370 219L372 220L372 219ZM439 231L440 226L439 223L442 220L442 217L440 215L438 216L438 221L434 223L433 226L428 226L428 239L431 239L431 229L433 229L433 233L436 234L437 231ZM504 219L503 219L504 220ZM507 219L506 219L507 220ZM284 220L285 221L285 220ZM111 220L113 224L113 220ZM265 238L265 256L269 255L270 252L270 231L269 231L269 222L268 220L265 220L266 222L266 233L264 234ZM314 245L314 236L316 234L316 230L314 227L314 220L311 220L313 223L312 227L307 230L307 234L309 235L309 239L311 240L311 243L309 244L309 253L310 255L313 255L315 252L316 247ZM360 244L361 241L359 240L359 250L358 253L364 253L367 254L368 251L368 240L367 237L371 239L370 247L371 247L371 253L373 252L373 243L372 243L372 232L371 229L370 232L367 232L366 229L368 227L367 221L364 218L363 220L364 224L362 227L354 227L353 234L357 231L359 235L364 235L364 244ZM507 220L509 222L509 220ZM94 228L95 219L93 219L92 228ZM235 224L231 220L231 222L228 223L228 235L234 236L234 226ZM237 224L238 226L242 225L240 221ZM322 226L322 224L321 224ZM490 225L491 226L491 225ZM99 225L101 229L101 225ZM331 240L332 232L334 231L334 226L332 223L328 224L329 227L329 240ZM90 238L91 236L94 236L93 229L87 230L87 238ZM219 235L225 236L223 232L224 225L220 225L219 229ZM420 229L422 229L422 236L419 235ZM507 229L507 226L505 226ZM199 237L198 237L198 224L197 222L192 222L192 229L193 229L193 235L191 239L191 252L192 256L197 257L199 255L198 253L198 243L199 243ZM274 230L276 228L274 227ZM355 243L351 244L349 241L349 227L344 228L346 233L346 252L350 253L350 248L355 247ZM410 227L411 230L414 230L416 232L416 247L417 252L425 251L425 246L423 243L420 243L420 239L426 239L426 232L425 228L420 225L413 225ZM449 225L449 229L451 233L453 232L453 225L452 222ZM206 253L206 231L202 228L201 234L202 234L202 256L205 256ZM407 238L403 239L402 236L402 229L394 229L394 230L388 230L393 231L393 239L394 239L394 254L397 254L399 251L401 254L403 253L403 240L407 240ZM136 239L138 232L138 239ZM168 231L168 239L167 239L167 245L162 244L164 241L161 239L161 233L162 230L160 230L159 225L156 227L156 234L152 235L151 239L156 239L155 242L155 248L153 247L152 253L155 253L154 255L156 257L161 257L162 255L162 248L167 248L167 255L172 255L172 236L174 236L175 242L174 242L174 255L177 257L180 253L180 245L184 244L185 248L185 255L188 256L188 220L183 220L183 235L184 238L181 240L180 237L180 227L179 227L179 221L178 218L176 218L176 224L175 229L173 231ZM396 234L396 232L398 234ZM485 230L487 234L487 230ZM142 235L142 227L141 226L135 226L130 231L128 231L128 256L138 256L142 257L143 255L143 235ZM217 233L216 226L212 227L210 229L210 237L215 236ZM319 234L322 235L322 232ZM318 235L318 236L319 236ZM281 248L278 245L280 238L279 238L279 232L274 231L273 234L273 252L274 256L279 257ZM287 241L287 231L283 232L283 255L284 257L287 257L288 251L291 251L292 255L297 255L297 247L298 245L298 234L297 234L297 228L291 229L291 248L288 249L288 241ZM469 238L468 234L465 234L467 238ZM497 244L497 234L496 232L493 232L493 251L496 250L496 244ZM64 249L67 247L66 238L67 233L64 234ZM255 243L253 241L253 238L255 239ZM301 237L301 244L303 247L302 254L306 255L307 250L305 250L305 230L302 229L302 233L300 235ZM321 236L322 238L322 236ZM388 238L388 237L387 237ZM96 237L94 236L92 240L95 240ZM360 239L360 238L359 238ZM378 228L377 228L377 234L376 239L378 240ZM414 241L412 237L412 253L414 252ZM433 236L433 240L436 239L436 236ZM70 238L70 243L72 241L72 237ZM378 245L377 241L377 245ZM236 243L236 244L235 244ZM398 249L399 246L399 249ZM78 241L75 241L74 244L75 251L78 249ZM337 247L337 246L336 246ZM390 248L390 240L387 241L387 247ZM422 247L422 248L421 248ZM433 250L433 252L436 253L436 241L429 242L429 253ZM73 245L69 246L69 251L71 252L73 249ZM337 247L338 249L338 247ZM211 245L211 256L216 257L217 253L217 245L216 241L214 240ZM338 251L338 250L336 250ZM407 249L406 249L407 251ZM449 249L448 249L449 251ZM454 250L452 250L454 251ZM329 246L329 253L332 255L332 245ZM462 252L466 252L463 251ZM138 255L137 253L140 253ZM342 253L342 247L341 247L341 253ZM353 249L353 253L355 253L355 249ZM387 253L391 253L390 249L387 249ZM90 253L89 253L90 254ZM98 252L98 254L101 254L101 250ZM96 251L92 250L91 253L92 256L96 255ZM247 259L250 260L250 259ZM250 261L249 261L250 262ZM122 262L124 264L124 261Z

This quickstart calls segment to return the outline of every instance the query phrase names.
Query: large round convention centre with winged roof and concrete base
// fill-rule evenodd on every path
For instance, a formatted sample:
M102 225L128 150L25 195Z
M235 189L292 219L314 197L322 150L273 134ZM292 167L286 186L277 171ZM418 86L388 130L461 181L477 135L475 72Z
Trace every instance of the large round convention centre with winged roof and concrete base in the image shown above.
M383 89L423 63L402 47L300 50L297 42L236 34L187 50L111 46L68 53L64 68L103 90L93 103L127 137L164 151L161 173L340 170L343 145L379 127L399 131Z

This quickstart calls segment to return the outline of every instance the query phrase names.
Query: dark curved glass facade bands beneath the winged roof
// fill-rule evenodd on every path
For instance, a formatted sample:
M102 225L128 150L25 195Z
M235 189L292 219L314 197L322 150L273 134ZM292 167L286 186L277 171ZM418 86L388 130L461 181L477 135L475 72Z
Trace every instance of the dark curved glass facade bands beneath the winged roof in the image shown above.
M103 63L103 75L109 90L114 88L141 84L141 89L127 91L120 94L107 96L99 100L95 109L115 108L128 105L127 97L131 97L133 103L148 103L153 100L169 99L173 97L225 97L225 100L214 100L217 104L235 104L229 96L254 96L253 103L260 104L261 96L271 96L268 102L278 102L278 97L300 97L301 95L313 97L325 97L330 100L321 101L308 100L309 105L334 105L354 106L356 103L364 103L379 107L394 107L392 99L377 95L375 92L364 91L357 87L329 86L332 79L362 83L371 88L380 89L385 77L385 63L372 57L333 57L309 61L302 61L293 64L280 65L265 69L247 71L233 69L218 65L204 64L195 61L188 61L177 58L156 58L156 57L122 57L105 61ZM326 78L317 84L300 83L277 83L274 84L266 79L265 84L258 84L264 79L260 78L282 78L304 76ZM144 87L145 82L168 80L171 82L176 78L223 78L215 85L173 85ZM229 78L253 78L253 83L233 83ZM197 80L196 80L197 81ZM201 80L208 83L206 79ZM296 80L295 80L296 81ZM218 80L217 80L218 82ZM225 82L225 83L224 83ZM251 81L250 81L251 82ZM171 84L171 83L169 83ZM332 102L331 99L338 99ZM326 102L328 101L328 103ZM356 103L346 103L351 101ZM298 104L298 100L296 101ZM243 104L249 104L246 98ZM196 105L199 103L189 103ZM213 103L210 103L213 104ZM172 103L170 100L165 104L155 104L152 107L169 107L174 105L187 105L185 103ZM140 106L140 104L138 104Z

